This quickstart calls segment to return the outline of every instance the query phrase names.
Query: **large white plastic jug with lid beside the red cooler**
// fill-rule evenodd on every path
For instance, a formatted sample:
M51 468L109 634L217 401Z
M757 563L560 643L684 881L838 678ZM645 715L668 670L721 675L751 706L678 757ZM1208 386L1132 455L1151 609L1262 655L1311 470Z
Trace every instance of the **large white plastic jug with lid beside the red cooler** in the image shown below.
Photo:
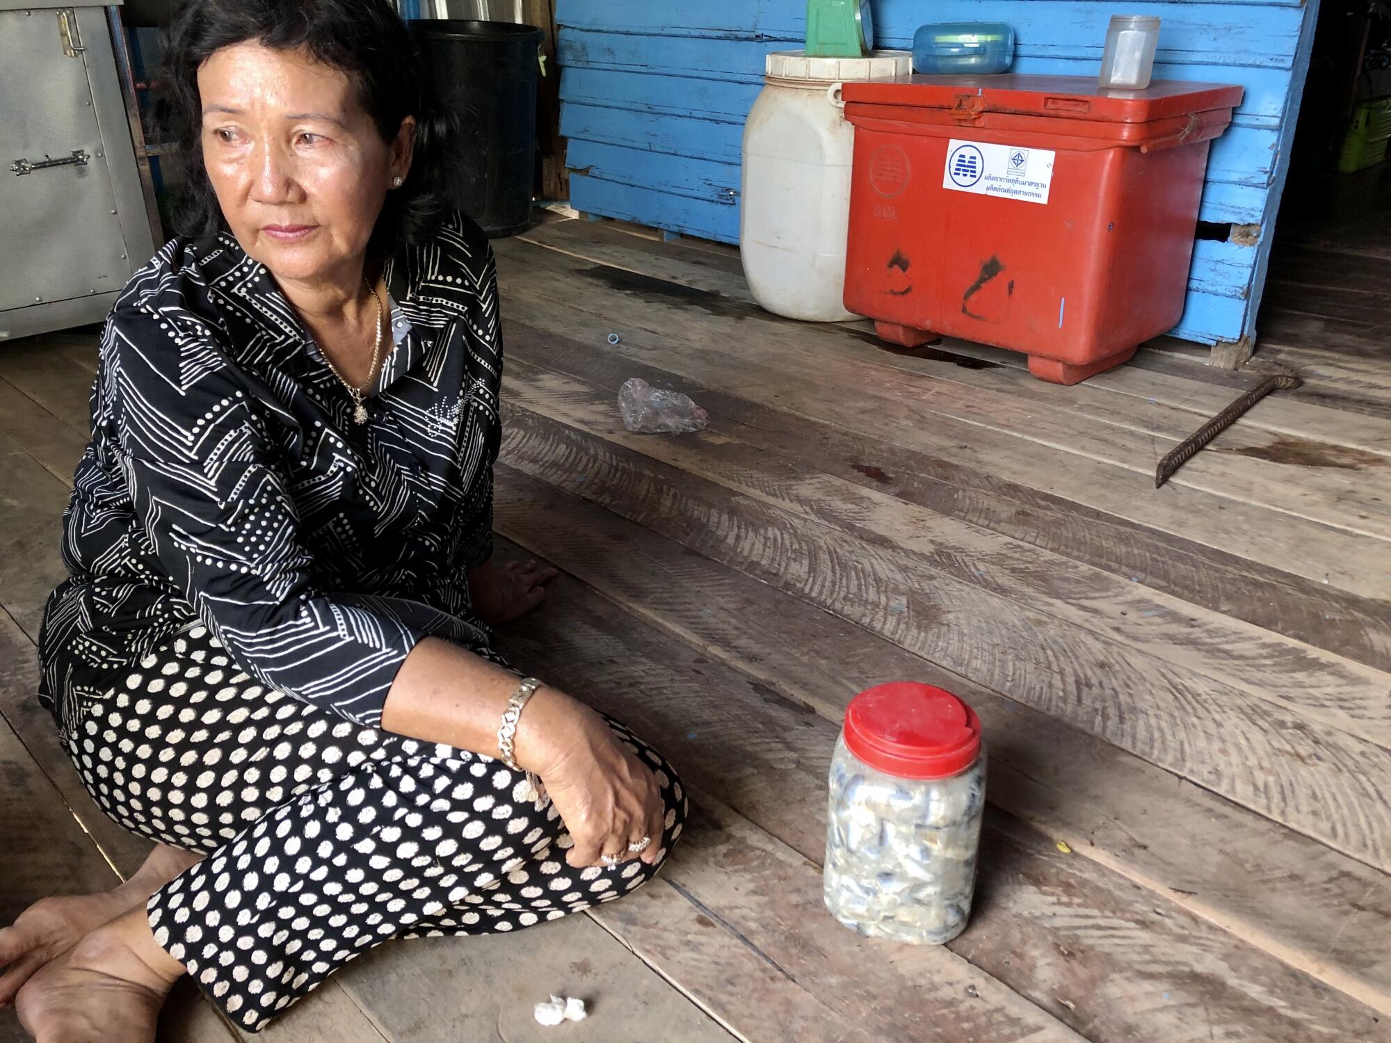
M840 85L911 71L904 50L768 56L765 86L744 124L739 252L754 298L773 314L811 323L855 317L843 303L854 128Z

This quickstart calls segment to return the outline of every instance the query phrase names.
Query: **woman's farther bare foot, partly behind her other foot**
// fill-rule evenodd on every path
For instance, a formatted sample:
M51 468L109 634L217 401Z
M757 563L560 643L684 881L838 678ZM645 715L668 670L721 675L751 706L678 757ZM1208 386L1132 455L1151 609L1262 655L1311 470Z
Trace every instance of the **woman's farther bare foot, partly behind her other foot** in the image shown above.
M8 1007L33 973L68 951L82 937L132 908L143 908L154 891L203 855L157 846L129 880L110 891L40 898L0 930L0 1007Z

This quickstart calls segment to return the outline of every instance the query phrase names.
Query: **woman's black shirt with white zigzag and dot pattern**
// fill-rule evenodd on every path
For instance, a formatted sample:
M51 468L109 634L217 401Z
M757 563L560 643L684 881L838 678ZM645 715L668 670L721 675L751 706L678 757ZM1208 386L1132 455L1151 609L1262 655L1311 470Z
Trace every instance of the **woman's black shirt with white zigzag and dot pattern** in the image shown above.
M363 426L231 235L175 239L127 286L40 638L60 719L198 623L259 683L369 726L421 637L494 658L466 581L492 552L492 250L453 216L384 275L395 343Z

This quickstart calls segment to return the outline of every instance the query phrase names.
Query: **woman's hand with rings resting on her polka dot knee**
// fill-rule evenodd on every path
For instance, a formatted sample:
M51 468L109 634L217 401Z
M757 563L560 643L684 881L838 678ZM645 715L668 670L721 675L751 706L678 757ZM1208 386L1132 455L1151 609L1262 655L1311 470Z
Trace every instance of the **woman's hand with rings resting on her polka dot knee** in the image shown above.
M540 772L545 791L574 846L565 861L580 869L604 865L601 855L620 861L657 861L666 808L652 769L643 763L588 706L573 702L569 738ZM526 715L522 716L523 726ZM630 844L647 847L633 852Z

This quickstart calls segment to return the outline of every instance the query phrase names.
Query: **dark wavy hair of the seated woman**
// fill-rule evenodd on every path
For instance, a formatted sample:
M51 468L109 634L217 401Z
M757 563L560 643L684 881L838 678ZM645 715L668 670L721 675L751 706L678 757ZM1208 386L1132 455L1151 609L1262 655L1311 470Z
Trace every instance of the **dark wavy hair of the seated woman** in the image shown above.
M157 121L179 146L184 197L178 232L195 238L227 227L203 165L203 111L198 70L223 47L259 40L274 50L303 49L348 75L383 140L416 117L415 156L406 184L387 193L369 252L377 257L430 238L449 209L448 157L456 122L430 102L420 51L387 0L184 0L164 31L164 81Z

